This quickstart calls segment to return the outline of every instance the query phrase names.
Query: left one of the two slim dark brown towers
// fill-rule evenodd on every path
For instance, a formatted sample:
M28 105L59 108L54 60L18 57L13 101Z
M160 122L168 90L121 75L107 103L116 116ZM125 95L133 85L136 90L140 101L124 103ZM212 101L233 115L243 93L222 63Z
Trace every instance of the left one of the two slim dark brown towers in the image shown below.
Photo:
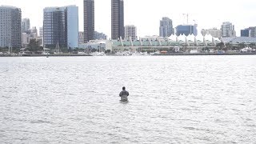
M94 0L83 0L84 42L94 39Z

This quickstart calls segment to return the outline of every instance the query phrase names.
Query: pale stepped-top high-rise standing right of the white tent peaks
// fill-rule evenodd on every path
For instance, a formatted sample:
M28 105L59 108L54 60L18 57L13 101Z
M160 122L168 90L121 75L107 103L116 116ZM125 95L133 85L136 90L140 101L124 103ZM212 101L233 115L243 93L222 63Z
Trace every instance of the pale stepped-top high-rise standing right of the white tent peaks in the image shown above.
M236 33L234 30L234 25L231 22L222 23L222 37L235 37Z

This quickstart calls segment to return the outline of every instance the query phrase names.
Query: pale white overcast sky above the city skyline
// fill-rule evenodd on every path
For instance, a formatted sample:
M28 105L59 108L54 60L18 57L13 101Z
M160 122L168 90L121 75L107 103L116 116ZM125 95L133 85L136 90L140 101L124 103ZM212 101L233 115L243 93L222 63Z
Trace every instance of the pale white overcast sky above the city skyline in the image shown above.
M111 0L94 0L95 30L111 35ZM240 30L256 26L255 0L124 0L125 25L135 25L138 36L158 35L159 20L169 17L174 27L186 22L198 23L198 31L217 27L222 22L232 22ZM79 7L79 30L83 30L83 0L0 0L0 5L22 9L22 18L30 18L31 26L42 26L43 8L47 6L76 5Z

